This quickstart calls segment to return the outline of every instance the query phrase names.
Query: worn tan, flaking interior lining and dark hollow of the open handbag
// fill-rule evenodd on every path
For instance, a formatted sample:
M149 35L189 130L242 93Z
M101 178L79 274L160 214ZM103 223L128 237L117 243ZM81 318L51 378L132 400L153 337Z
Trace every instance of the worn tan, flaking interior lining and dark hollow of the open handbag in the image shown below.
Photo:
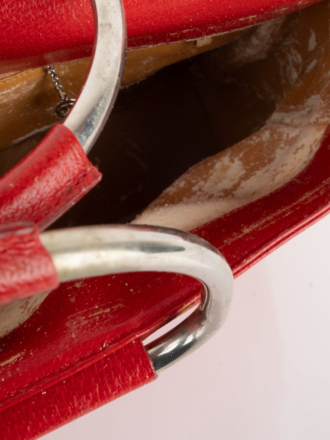
M189 231L274 191L330 122L328 0L235 33L128 52L89 159L102 181L51 228L159 224ZM174 62L175 61L175 62ZM55 66L77 96L88 59ZM0 78L0 175L60 122L44 68ZM0 335L43 300L0 308Z

